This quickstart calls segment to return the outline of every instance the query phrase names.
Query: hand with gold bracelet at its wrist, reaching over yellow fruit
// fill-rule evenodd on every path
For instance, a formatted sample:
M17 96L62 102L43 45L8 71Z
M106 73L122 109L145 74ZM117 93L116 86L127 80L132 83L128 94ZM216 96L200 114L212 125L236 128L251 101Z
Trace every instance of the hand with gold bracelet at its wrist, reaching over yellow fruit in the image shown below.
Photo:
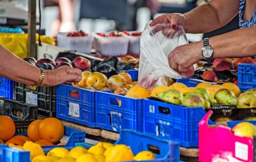
M55 86L62 83L78 83L82 79L82 72L78 68L60 66L56 70L46 71L41 86Z

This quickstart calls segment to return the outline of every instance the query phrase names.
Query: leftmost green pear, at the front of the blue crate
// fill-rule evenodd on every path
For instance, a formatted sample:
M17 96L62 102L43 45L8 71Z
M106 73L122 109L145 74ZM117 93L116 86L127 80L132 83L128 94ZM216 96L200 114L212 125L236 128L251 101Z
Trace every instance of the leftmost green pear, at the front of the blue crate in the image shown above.
M169 102L176 105L181 105L183 95L179 90L170 89L167 91L162 91L158 94L158 98L165 102Z

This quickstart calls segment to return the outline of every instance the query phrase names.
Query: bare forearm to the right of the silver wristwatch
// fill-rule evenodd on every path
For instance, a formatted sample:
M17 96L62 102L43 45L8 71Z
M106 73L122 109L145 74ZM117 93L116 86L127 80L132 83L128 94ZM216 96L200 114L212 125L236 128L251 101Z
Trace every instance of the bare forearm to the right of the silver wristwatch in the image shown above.
M256 27L238 29L209 39L214 58L256 55Z

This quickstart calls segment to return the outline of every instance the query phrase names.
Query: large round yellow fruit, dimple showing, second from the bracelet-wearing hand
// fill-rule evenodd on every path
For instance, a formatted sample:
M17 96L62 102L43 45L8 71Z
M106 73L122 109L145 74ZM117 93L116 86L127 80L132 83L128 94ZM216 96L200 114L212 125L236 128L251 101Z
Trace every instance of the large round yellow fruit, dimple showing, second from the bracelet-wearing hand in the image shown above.
M90 74L86 79L86 85L100 90L106 86L108 78L104 74L94 72Z

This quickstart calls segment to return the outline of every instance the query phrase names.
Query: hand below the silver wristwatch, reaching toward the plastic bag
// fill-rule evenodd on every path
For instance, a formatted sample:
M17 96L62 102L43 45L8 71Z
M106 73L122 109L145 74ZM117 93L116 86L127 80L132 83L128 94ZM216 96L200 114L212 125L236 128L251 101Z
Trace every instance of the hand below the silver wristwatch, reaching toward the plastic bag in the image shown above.
M199 41L175 48L168 56L170 67L179 73L187 72L189 66L203 59L202 47L203 43Z

